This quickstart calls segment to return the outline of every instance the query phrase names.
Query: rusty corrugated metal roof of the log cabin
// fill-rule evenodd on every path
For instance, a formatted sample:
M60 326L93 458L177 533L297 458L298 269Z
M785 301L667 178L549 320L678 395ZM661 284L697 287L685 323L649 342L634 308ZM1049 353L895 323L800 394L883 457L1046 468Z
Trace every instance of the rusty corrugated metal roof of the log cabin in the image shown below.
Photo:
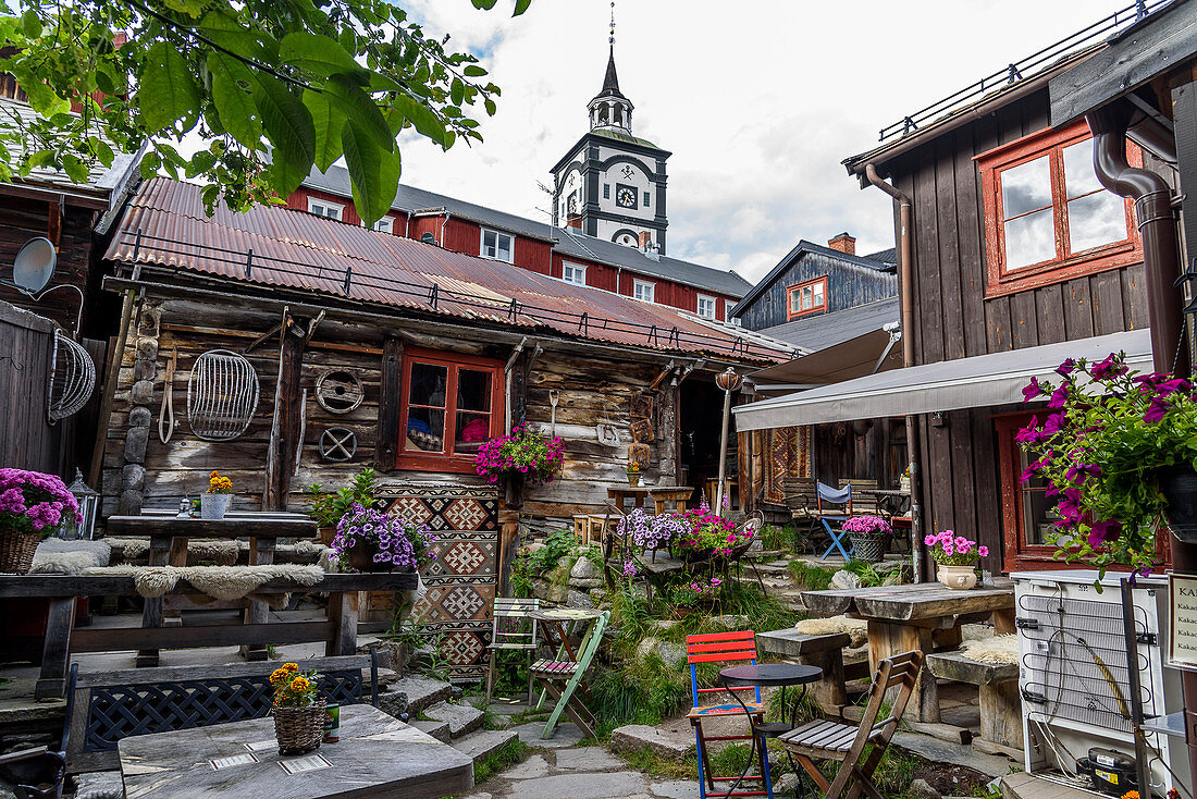
M794 355L785 343L666 305L282 206L219 205L208 217L200 190L146 181L105 258L651 350L745 361Z

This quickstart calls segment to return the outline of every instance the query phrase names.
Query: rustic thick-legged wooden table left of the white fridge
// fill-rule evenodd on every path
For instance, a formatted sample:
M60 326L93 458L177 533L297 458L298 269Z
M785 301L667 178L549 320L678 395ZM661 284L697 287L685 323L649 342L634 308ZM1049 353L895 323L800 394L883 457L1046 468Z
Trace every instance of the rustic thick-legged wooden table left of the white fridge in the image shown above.
M802 603L812 616L849 616L869 629L869 666L889 655L919 649L931 654L960 646L960 625L994 618L997 635L1014 632L1014 583L998 579L992 587L967 591L937 582L834 591L804 591ZM940 691L923 668L907 713L918 721L940 721Z

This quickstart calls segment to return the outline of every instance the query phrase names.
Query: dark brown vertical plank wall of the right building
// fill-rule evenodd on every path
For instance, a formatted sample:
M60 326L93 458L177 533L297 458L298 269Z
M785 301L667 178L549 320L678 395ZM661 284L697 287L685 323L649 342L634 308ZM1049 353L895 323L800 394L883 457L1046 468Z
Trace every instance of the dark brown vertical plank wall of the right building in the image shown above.
M985 212L973 157L1046 127L1043 89L885 164L913 206L916 363L1147 326L1142 262L985 298ZM1172 178L1148 153L1144 165ZM984 567L995 573L1003 570L1004 535L992 417L1015 410L950 411L919 424L924 528L952 528L986 544Z

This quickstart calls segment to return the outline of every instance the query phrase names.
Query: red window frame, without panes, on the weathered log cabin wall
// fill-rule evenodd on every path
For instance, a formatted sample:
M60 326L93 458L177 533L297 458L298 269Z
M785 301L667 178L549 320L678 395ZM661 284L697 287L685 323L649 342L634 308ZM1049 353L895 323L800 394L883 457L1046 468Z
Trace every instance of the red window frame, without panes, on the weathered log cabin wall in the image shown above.
M412 367L417 363L435 367L445 367L448 380L445 383L445 435L439 453L436 452L412 452L405 448L407 443L408 402L412 391ZM403 364L400 376L399 401L400 401L400 426L399 442L396 447L395 467L402 470L460 472L463 474L474 473L474 454L452 452L454 438L457 430L457 374L461 369L474 371L486 371L491 375L491 426L490 437L503 435L503 426L506 418L506 402L504 393L506 381L503 374L503 362L493 358L484 358L472 355L458 355L456 352L443 352L437 350L424 350L420 347L408 347L403 351Z

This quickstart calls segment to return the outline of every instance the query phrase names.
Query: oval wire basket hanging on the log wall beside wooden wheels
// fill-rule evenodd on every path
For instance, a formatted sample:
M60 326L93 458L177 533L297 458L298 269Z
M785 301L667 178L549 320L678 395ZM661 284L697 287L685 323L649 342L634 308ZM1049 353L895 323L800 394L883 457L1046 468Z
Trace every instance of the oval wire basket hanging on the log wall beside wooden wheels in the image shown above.
M187 381L187 418L205 441L229 441L245 432L257 410L254 365L229 350L208 350L195 359Z

